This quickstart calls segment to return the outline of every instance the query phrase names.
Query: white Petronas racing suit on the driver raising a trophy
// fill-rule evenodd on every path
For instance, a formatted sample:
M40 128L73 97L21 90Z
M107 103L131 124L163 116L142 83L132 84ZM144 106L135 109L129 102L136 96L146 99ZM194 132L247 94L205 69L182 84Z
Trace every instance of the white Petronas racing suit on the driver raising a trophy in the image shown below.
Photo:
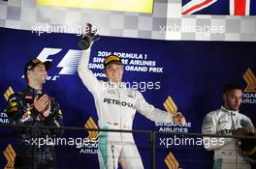
M171 114L147 103L139 91L99 81L88 69L89 55L90 48L83 51L78 71L83 84L93 95L100 128L132 130L136 111L154 122L173 122ZM98 158L101 169L116 169L118 162L123 169L144 168L132 133L101 132Z

